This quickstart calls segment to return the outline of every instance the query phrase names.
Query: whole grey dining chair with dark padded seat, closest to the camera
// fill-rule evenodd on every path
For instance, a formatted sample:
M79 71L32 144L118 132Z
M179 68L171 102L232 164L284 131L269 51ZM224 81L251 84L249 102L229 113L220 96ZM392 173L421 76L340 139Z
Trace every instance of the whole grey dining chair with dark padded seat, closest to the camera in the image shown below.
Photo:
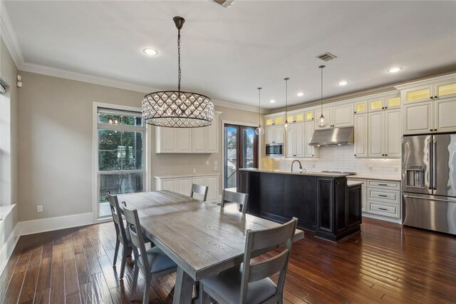
M227 304L282 303L286 269L297 221L297 218L293 218L275 228L247 230L244 263L200 280L201 303L209 303L212 299ZM252 258L276 248L283 248L283 251L271 258L252 263ZM276 273L279 273L277 285L269 278Z

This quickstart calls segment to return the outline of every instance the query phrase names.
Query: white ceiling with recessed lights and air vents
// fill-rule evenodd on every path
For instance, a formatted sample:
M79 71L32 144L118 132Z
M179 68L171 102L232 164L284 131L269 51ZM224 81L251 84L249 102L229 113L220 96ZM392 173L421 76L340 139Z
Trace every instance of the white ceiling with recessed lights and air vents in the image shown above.
M4 2L26 63L160 89L177 87L182 16L182 90L252 106L257 86L284 106L285 76L289 104L318 99L326 51L326 97L456 69L456 1Z

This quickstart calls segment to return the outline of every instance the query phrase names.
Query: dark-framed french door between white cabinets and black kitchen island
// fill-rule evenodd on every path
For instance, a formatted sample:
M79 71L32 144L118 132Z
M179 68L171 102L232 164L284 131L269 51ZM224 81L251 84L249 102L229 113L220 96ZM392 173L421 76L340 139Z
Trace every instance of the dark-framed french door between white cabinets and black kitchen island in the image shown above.
M236 188L239 168L258 168L255 127L224 125L224 188Z

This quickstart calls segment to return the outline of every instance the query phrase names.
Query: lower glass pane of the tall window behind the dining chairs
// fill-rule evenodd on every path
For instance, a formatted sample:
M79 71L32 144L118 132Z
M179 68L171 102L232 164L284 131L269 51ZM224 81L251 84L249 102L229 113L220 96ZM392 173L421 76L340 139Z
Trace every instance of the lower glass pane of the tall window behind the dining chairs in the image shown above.
M106 193L111 194L132 193L142 191L142 172L138 173L113 173L100 174L98 176L99 193L98 201L100 202L100 217L110 216L109 203L106 200Z

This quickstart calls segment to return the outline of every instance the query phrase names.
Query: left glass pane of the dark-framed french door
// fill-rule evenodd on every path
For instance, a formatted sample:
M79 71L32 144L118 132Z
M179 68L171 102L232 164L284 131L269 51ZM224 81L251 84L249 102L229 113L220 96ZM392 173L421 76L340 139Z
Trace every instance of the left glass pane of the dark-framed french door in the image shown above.
M225 188L236 187L237 178L237 128L235 126L225 126Z

